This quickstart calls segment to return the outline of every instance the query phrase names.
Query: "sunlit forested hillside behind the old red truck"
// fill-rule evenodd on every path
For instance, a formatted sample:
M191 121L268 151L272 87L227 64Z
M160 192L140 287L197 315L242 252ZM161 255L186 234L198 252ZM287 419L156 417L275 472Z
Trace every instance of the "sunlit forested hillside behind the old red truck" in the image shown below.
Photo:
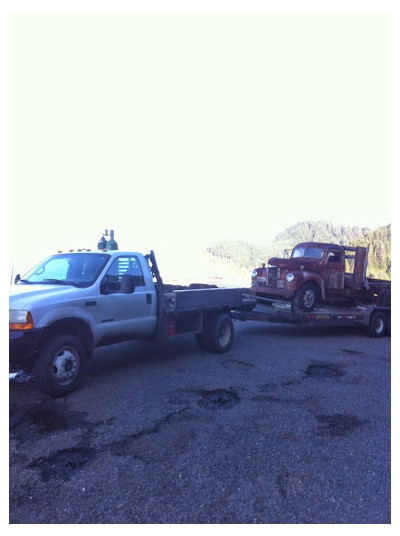
M207 253L251 270L262 262L267 263L271 257L282 257L284 250L290 252L300 242L311 241L345 246L369 244L368 277L391 279L391 224L372 231L367 227L335 226L325 221L302 222L279 233L266 246L241 240L221 240L207 248Z

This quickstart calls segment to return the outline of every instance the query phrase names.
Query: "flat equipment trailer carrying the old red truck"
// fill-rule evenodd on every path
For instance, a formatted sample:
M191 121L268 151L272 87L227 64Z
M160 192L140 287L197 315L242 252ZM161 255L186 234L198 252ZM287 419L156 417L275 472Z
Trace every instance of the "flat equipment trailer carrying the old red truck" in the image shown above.
M234 311L232 317L241 321L308 324L313 326L354 326L367 328L371 337L391 335L391 307L358 305L354 307L320 306L312 312L296 311L290 303L258 297L252 311Z

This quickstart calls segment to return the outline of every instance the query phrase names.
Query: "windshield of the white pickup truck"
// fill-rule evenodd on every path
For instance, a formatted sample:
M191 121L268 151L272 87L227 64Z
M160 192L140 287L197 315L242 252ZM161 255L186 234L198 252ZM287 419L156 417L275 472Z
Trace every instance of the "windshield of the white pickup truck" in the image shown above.
M93 285L110 256L103 253L63 253L48 257L21 279L23 283Z

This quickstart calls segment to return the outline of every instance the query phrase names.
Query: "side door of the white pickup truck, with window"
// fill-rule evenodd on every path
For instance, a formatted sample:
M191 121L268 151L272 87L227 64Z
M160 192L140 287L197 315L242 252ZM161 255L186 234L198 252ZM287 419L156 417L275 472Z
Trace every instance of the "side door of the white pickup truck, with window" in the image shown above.
M131 276L134 287L121 286L125 274ZM98 314L102 338L134 338L154 332L156 293L152 284L146 285L136 256L121 255L114 259L101 284Z

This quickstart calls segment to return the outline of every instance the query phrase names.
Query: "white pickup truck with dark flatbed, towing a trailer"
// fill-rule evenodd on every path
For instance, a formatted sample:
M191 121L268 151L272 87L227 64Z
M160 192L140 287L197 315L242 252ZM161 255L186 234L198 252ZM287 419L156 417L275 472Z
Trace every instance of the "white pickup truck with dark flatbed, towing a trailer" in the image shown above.
M154 252L78 251L52 255L10 288L10 365L33 371L52 396L81 382L95 348L192 333L226 352L232 315L251 311L241 288L164 285Z

